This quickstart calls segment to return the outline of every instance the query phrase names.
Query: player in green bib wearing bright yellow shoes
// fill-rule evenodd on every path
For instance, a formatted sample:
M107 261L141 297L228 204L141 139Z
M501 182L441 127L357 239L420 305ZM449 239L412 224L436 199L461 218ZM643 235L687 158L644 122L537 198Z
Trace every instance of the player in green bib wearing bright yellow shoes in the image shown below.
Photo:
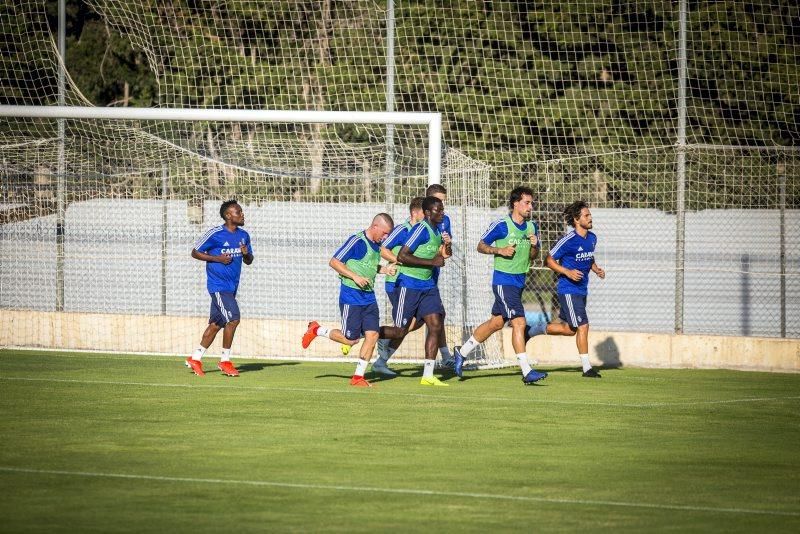
M439 224L444 217L444 204L436 197L425 197L422 201L425 218L412 229L406 243L397 253L402 264L400 276L397 278L397 306L394 310L395 327L401 330L400 335L384 335L389 330L381 330L382 338L396 339L408 333L411 320L425 323L425 367L420 384L424 386L447 386L433 376L436 365L436 352L444 328L444 306L439 296L439 288L433 279L433 270L444 266L444 260L450 257L450 250L439 231Z

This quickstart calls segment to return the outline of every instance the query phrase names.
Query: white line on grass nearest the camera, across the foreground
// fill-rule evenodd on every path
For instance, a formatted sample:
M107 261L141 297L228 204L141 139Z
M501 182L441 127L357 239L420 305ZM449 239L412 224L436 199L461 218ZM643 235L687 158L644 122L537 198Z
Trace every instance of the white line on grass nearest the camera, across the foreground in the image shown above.
M800 512L784 512L780 510L755 510L752 508L716 508L713 506L691 506L683 504L655 504L625 501L600 501L591 499L553 499L547 497L528 497L524 495L501 495L496 493L469 493L460 491L437 491L407 488L381 488L374 486L342 486L328 484L298 484L292 482L273 482L269 480L236 480L223 478L166 477L158 475L129 475L124 473L97 473L89 471L61 471L51 469L26 469L22 467L0 467L7 473L29 473L35 475L64 475L94 478L121 478L133 480L157 480L162 482L187 482L199 484L231 484L235 486L261 486L273 488L310 489L324 491L350 491L370 493L394 493L401 495L424 495L436 497L455 497L469 499L495 499L502 501L542 502L550 504L577 504L582 506L619 506L625 508L648 508L656 510L680 510L689 512L712 512L726 514L758 514L800 517Z

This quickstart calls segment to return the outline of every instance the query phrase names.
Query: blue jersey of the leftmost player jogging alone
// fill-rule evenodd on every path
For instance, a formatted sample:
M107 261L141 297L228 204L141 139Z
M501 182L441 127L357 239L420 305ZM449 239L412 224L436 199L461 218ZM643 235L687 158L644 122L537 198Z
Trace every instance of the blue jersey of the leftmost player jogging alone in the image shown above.
M225 225L212 228L195 243L194 249L198 252L211 256L230 254L233 258L228 265L206 262L206 287L208 287L209 293L218 291L236 293L239 288L239 277L242 274L242 250L239 248L242 243L247 245L247 250L252 254L253 245L250 243L250 234L241 228L231 232L225 228Z

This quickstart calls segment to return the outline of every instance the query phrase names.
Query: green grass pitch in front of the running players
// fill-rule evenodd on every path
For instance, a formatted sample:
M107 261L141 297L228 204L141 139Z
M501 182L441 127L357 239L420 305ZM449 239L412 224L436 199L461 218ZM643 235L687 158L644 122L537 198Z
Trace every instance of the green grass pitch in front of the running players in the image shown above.
M800 531L800 375L216 361L0 351L0 531Z

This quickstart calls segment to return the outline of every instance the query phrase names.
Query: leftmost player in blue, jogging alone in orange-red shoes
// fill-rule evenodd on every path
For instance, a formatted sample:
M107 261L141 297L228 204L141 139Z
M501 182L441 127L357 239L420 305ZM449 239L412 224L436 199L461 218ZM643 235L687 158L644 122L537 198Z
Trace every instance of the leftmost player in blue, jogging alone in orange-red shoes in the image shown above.
M231 363L231 345L236 327L241 318L236 303L236 291L242 263L253 263L253 247L250 234L242 229L244 212L236 200L226 200L219 208L219 216L225 221L207 231L195 243L192 257L206 262L206 287L211 295L211 314L208 326L194 354L186 358L186 366L194 374L205 376L202 358L208 347L222 330L222 357L217 365L227 376L239 376L239 371Z

